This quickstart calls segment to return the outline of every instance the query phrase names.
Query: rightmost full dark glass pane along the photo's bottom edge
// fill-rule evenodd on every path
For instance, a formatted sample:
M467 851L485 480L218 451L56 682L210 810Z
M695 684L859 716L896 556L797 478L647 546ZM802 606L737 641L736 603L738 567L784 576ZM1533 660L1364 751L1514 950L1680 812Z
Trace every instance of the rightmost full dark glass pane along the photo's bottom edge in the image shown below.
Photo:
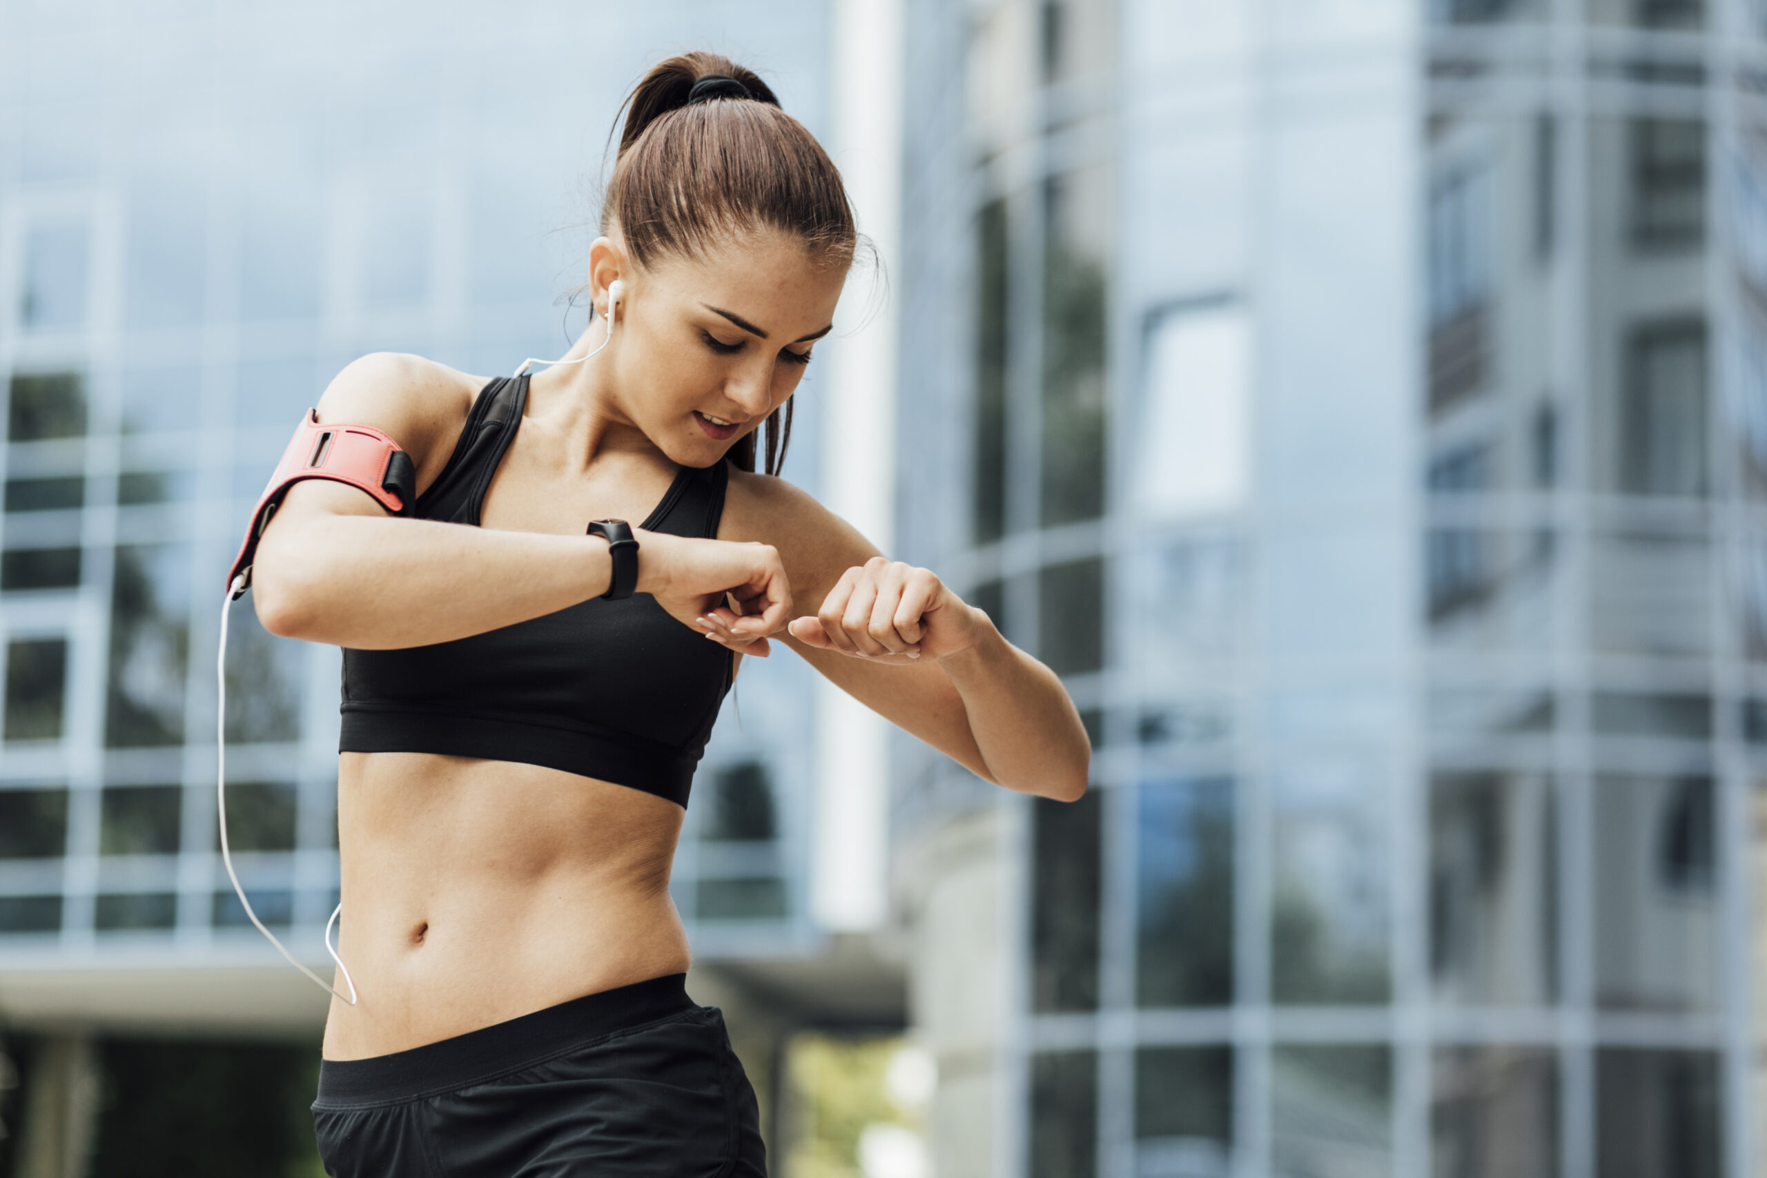
M1719 1178L1719 1077L1712 1051L1596 1051L1601 1178Z

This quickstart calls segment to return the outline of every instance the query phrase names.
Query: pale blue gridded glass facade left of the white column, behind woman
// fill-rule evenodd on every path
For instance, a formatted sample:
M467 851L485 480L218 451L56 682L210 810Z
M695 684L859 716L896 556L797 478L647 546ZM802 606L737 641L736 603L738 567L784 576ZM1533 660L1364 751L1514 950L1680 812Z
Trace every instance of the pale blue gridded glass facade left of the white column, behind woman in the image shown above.
M12 1017L57 1008L32 977L286 968L217 857L212 655L223 574L290 429L368 351L481 374L562 355L624 90L714 46L815 131L825 7L0 7ZM811 487L815 396L811 374L788 466ZM337 652L269 636L246 599L226 673L235 862L265 922L325 961ZM724 706L675 869L701 957L815 934L809 692L776 659Z

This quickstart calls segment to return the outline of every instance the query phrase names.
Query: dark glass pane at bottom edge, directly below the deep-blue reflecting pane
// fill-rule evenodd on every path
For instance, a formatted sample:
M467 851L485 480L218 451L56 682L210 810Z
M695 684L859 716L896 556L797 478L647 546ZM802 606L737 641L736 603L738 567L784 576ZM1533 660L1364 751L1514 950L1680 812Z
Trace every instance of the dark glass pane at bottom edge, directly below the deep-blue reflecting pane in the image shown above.
M1233 1049L1134 1053L1136 1174L1226 1178L1233 1160Z

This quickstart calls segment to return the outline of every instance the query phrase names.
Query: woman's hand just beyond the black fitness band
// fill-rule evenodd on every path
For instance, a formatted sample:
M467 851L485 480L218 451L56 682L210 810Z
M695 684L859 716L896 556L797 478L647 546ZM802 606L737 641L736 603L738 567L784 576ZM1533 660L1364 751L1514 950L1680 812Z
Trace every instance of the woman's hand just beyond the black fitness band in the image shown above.
M767 657L767 636L792 615L792 586L770 544L633 530L638 586L671 618L740 653Z

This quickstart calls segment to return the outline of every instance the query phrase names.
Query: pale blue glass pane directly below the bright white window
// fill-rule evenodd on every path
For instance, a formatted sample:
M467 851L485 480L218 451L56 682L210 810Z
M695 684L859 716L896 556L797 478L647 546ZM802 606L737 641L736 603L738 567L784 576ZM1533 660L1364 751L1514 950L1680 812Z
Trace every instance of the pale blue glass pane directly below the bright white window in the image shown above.
M1143 682L1157 683L1198 662L1226 662L1240 650L1248 597L1246 546L1207 537L1141 547L1129 556L1133 645Z

